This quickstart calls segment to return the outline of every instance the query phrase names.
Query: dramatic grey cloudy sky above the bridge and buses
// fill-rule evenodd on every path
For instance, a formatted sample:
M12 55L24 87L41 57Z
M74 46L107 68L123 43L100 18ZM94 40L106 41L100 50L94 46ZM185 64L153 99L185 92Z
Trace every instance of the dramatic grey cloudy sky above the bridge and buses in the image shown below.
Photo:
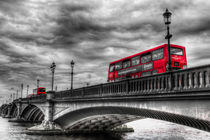
M166 42L162 13L172 12L172 43L186 46L188 66L210 63L207 0L0 0L1 97L30 85L104 83L109 62Z

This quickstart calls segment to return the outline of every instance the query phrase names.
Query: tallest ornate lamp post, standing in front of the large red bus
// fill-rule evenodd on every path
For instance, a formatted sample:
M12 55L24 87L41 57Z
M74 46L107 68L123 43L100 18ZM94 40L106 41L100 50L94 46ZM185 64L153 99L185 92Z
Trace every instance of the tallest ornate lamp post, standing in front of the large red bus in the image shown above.
M163 13L163 18L165 25L167 27L167 35L165 39L168 39L168 70L171 71L171 47L170 47L170 38L172 37L172 34L169 32L169 24L171 24L171 12L166 9L165 13Z

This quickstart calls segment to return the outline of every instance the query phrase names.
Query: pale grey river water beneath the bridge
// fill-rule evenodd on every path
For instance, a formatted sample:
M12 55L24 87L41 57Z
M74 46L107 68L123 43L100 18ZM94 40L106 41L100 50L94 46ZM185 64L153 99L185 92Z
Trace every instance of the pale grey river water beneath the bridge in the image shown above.
M22 133L32 124L12 123L0 117L0 140L210 140L208 132L159 120L143 119L127 125L133 127L135 132L122 136L40 136Z

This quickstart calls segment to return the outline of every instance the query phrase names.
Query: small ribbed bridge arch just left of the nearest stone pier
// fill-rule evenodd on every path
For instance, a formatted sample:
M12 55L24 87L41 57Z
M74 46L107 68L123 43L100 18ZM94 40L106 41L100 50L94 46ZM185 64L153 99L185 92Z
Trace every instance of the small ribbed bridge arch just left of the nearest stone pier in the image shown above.
M36 105L29 104L21 112L20 118L26 121L40 122L44 120L44 113Z

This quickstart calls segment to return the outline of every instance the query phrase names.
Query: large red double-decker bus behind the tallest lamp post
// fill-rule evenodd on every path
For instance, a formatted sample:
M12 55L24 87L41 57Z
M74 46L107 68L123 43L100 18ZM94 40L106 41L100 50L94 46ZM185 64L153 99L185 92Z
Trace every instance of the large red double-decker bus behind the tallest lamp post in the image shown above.
M187 67L185 47L171 44L171 67ZM122 58L109 64L108 82L168 71L168 44Z

